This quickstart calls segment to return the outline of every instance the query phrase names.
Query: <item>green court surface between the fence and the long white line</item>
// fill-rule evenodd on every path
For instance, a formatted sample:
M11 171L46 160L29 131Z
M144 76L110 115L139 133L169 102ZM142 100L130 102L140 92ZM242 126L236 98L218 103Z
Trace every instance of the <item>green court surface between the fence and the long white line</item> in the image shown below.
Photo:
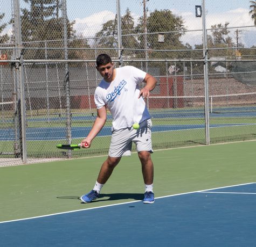
M256 141L157 150L155 197L255 182L255 156ZM98 200L80 203L105 158L0 168L0 222L142 200L141 165L134 153L122 158Z

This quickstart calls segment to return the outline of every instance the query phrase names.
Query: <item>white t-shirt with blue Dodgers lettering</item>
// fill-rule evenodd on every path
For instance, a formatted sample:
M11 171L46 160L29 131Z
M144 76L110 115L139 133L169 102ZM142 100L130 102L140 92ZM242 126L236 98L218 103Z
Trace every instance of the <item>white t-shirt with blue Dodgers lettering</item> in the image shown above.
M141 83L146 72L133 66L116 68L111 83L104 79L95 90L94 101L97 109L107 105L112 114L113 129L132 127L135 122L149 119L150 115L142 97L139 97Z

